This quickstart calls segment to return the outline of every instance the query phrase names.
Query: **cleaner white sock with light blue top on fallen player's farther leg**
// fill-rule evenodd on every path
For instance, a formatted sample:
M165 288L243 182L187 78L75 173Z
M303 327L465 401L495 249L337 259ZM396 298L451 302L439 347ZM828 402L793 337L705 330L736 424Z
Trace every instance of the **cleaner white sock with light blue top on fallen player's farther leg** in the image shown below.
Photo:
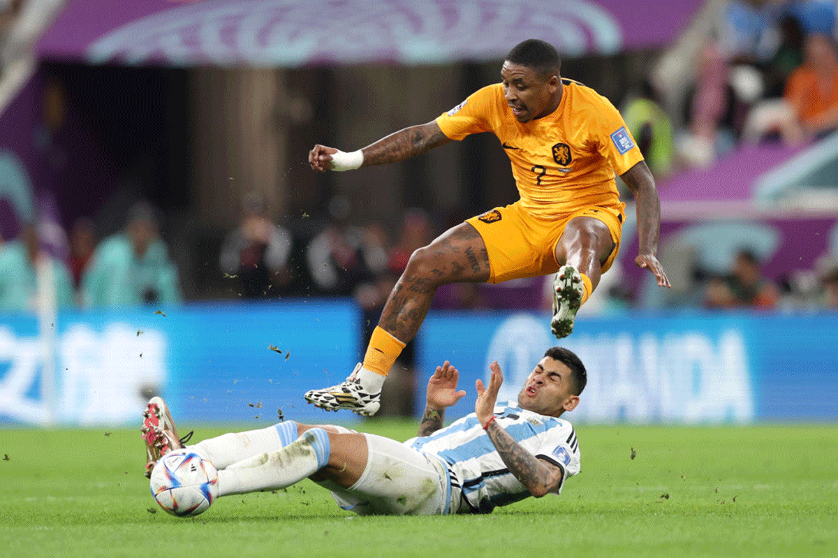
M286 421L260 430L222 434L189 446L189 449L209 459L216 469L223 469L249 457L276 452L297 437L297 423Z

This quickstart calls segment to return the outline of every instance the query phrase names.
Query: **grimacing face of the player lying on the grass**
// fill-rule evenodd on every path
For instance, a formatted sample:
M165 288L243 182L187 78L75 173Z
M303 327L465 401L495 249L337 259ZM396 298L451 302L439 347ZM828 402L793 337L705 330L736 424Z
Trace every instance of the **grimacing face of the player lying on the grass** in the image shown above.
M572 411L579 396L571 392L571 369L559 360L544 357L527 376L518 394L518 405L541 415L559 416Z

